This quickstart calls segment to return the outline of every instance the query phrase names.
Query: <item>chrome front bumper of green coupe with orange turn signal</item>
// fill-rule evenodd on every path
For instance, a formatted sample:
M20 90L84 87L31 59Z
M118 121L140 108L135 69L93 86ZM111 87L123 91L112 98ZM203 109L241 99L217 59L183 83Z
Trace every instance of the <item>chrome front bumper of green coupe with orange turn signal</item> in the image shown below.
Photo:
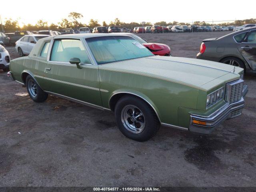
M243 87L243 96L248 92L248 86ZM238 102L226 103L222 108L218 109L216 112L210 114L209 116L198 116L195 114L190 115L190 127L191 132L197 132L202 134L210 134L216 126L218 126L222 121L235 118L242 114L242 108L244 107L244 98ZM205 122L205 125L196 124L196 121Z

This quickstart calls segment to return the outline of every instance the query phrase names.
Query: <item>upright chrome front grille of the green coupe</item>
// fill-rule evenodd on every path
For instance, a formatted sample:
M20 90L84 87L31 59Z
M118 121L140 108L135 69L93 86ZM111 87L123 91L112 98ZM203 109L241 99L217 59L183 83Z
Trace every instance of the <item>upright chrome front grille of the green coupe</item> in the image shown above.
M242 99L244 80L239 79L226 84L226 102L234 103Z

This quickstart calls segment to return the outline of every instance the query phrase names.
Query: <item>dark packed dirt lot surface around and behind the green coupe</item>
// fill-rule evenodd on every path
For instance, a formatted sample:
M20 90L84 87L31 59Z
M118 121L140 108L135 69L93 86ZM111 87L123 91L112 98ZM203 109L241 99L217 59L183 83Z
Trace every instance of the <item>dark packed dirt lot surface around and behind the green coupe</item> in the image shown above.
M224 34L140 36L194 58L202 39ZM245 81L242 116L212 134L161 127L152 140L135 142L112 112L54 96L35 103L0 71L0 186L256 186L256 75Z

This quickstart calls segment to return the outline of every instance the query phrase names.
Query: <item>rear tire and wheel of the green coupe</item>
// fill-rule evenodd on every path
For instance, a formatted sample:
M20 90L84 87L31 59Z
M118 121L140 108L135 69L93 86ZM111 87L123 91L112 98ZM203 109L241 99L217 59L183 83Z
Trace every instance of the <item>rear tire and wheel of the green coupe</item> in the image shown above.
M44 92L30 75L26 78L26 88L34 102L44 102L48 98L48 93Z

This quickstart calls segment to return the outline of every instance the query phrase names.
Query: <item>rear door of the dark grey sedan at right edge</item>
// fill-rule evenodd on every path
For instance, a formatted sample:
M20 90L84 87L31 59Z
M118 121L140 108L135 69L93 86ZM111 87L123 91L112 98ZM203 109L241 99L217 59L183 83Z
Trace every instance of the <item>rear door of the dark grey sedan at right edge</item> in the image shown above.
M256 70L256 30L251 30L247 34L238 50L252 70Z

